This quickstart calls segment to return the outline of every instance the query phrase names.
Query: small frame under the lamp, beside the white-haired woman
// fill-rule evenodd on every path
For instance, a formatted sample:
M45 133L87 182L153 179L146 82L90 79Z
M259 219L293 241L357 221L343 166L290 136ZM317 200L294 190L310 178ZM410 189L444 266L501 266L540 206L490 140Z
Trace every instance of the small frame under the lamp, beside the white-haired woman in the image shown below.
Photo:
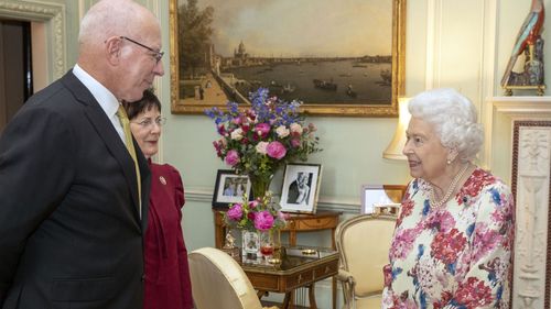
M407 186L363 185L361 213L398 214Z

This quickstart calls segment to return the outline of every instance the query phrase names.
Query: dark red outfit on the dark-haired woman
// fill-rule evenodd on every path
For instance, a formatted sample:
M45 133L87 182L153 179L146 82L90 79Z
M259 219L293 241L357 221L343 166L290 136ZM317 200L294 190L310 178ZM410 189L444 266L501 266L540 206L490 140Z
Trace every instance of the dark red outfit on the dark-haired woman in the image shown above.
M193 308L187 250L182 233L184 186L171 165L150 163L151 196L144 238L144 309Z

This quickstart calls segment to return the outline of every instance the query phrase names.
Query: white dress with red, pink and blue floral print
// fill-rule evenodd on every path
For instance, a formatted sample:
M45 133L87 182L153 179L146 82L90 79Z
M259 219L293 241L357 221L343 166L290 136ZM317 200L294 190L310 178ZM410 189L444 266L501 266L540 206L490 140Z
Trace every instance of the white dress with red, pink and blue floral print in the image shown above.
M410 183L386 265L382 308L509 308L515 206L509 188L476 168L441 208Z

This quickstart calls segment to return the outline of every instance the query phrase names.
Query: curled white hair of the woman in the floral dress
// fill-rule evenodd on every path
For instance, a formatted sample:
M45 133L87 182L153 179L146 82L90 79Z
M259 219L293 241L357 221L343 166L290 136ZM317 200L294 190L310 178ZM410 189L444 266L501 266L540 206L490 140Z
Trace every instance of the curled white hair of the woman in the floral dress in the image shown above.
M462 162L476 157L484 141L484 130L477 122L476 108L452 88L421 92L409 101L412 117L433 125L442 145L455 148Z

